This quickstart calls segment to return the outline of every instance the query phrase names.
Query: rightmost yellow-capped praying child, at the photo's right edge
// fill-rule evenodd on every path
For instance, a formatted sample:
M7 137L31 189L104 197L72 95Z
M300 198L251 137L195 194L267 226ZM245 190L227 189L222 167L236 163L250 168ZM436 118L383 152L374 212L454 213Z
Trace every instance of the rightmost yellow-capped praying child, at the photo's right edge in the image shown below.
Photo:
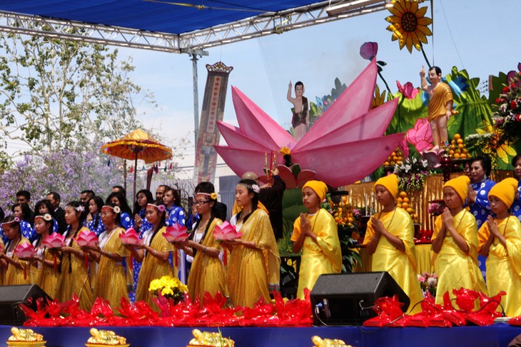
M521 315L521 222L509 213L516 190L515 178L490 188L488 201L496 217L488 216L477 234L480 254L487 257L488 296L505 291L501 305L509 317Z

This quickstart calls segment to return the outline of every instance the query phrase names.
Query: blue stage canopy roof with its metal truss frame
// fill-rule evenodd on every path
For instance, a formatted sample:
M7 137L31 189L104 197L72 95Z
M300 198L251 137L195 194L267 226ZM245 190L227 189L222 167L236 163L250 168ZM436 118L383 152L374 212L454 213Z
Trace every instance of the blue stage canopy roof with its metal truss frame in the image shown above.
M182 0L181 0L182 1ZM385 9L388 0L0 0L0 30L174 53Z

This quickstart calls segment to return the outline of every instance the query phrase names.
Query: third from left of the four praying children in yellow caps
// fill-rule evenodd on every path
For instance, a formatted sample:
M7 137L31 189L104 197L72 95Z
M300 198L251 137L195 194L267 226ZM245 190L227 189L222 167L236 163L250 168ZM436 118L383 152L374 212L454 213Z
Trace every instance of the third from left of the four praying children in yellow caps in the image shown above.
M468 288L485 293L485 281L477 267L476 218L463 208L470 178L458 176L443 185L445 210L434 223L433 251L438 274L436 303L443 303L443 295L452 289Z

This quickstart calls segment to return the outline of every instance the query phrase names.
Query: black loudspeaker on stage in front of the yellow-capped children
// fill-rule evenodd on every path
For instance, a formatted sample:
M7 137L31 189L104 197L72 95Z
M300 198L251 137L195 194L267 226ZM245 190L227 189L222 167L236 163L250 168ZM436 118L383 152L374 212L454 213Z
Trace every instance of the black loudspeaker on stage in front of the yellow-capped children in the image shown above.
M311 309L315 326L360 325L376 316L376 299L398 294L402 311L410 299L386 271L329 273L320 275L311 291Z

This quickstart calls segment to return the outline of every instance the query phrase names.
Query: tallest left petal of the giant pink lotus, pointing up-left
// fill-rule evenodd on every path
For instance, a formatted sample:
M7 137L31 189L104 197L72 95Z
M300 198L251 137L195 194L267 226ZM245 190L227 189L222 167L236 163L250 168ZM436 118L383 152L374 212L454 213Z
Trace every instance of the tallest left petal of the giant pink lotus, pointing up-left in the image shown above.
M232 86L233 106L236 109L237 121L241 133L251 139L265 144L268 148L280 149L296 140L288 131L282 129L276 121L266 114L242 91Z

